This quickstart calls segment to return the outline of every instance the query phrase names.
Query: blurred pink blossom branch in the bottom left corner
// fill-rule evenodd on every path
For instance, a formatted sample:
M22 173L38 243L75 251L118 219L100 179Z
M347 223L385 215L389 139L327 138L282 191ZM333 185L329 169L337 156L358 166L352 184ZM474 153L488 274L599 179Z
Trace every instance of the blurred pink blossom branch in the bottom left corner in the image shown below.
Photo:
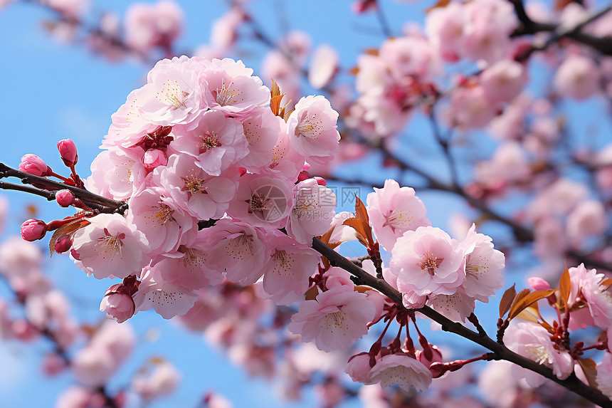
M174 391L180 375L169 362L159 359L150 364L150 378L136 375L130 387L115 390L112 377L136 342L132 327L112 320L95 326L78 323L68 298L43 273L39 246L17 236L3 241L0 274L15 295L14 300L0 300L1 339L46 339L53 347L43 357L43 373L53 377L71 372L77 383L58 396L56 407L122 407L128 394L150 402Z

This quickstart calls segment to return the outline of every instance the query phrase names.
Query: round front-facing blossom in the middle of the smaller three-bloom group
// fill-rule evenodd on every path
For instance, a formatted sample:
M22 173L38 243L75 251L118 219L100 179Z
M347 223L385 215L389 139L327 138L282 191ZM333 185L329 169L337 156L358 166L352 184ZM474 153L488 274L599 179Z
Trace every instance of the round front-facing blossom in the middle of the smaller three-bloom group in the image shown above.
M452 295L465 277L458 242L432 226L406 231L391 252L389 268L399 291L419 296Z

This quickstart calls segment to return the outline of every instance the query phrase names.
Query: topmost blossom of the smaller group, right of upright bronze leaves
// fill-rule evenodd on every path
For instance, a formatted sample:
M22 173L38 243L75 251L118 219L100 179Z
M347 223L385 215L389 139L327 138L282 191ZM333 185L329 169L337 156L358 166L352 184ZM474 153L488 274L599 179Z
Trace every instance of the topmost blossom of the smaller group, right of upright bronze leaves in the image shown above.
M425 204L416 197L414 189L399 187L395 180L387 179L382 189L374 188L366 203L376 239L387 251L393 249L404 232L431 225Z

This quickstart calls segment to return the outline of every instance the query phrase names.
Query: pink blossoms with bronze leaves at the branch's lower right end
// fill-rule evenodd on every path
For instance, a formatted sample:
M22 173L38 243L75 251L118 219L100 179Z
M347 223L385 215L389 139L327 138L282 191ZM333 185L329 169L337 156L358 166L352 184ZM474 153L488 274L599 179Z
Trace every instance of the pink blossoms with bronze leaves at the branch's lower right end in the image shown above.
M510 350L551 368L559 379L576 373L581 381L612 398L611 284L610 278L581 264L566 269L559 289L551 288L542 278L529 279L533 291L525 289L508 296L513 291L509 289L500 306L500 314L509 315L498 323L500 332L505 332L505 344ZM547 313L540 312L539 300L555 310L552 321ZM591 338L582 332L587 328L595 328L599 333L592 345L585 345ZM576 337L580 340L576 341ZM594 362L584 356L588 350L603 350L603 358ZM512 373L516 380L526 379L530 387L544 382L542 377L521 367L514 367Z

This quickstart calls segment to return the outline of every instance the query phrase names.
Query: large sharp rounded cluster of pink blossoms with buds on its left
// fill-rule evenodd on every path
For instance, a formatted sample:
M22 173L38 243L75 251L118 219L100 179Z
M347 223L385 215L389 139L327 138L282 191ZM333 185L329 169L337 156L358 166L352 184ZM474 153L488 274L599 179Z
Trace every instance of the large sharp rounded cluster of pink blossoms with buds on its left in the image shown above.
M125 214L23 224L26 239L62 224L56 251L70 249L95 278L123 279L100 306L118 321L149 308L182 315L197 290L224 279L249 285L263 276L263 291L279 304L307 291L320 258L312 238L327 231L336 206L307 161L337 152L337 113L322 96L280 108L283 95L252 74L231 59L160 61L112 115L86 183L126 202ZM56 175L31 156L20 169Z

